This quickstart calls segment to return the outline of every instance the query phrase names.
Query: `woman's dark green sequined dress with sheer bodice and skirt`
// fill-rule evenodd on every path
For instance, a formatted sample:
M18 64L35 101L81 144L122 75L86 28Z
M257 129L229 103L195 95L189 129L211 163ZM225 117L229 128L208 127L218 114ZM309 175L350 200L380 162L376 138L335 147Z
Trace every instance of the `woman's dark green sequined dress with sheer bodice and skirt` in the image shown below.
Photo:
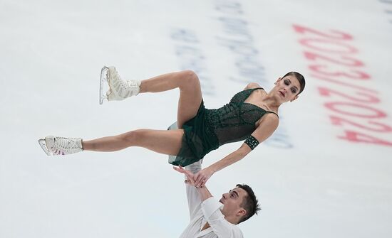
M254 90L263 89L257 87L238 92L219 109L206 109L202 101L196 116L182 125L184 136L180 151L177 156L169 156L169 163L190 165L223 144L242 141L252 134L256 122L264 114L274 113L244 102ZM177 129L177 123L168 129Z

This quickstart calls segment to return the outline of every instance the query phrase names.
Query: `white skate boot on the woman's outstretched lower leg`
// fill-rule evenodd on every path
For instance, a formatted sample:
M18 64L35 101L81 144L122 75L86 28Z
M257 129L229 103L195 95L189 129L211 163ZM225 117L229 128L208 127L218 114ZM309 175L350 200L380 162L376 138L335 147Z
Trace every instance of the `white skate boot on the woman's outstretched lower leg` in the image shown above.
M64 156L83 151L81 138L46 136L45 139L39 139L38 143L48 156Z

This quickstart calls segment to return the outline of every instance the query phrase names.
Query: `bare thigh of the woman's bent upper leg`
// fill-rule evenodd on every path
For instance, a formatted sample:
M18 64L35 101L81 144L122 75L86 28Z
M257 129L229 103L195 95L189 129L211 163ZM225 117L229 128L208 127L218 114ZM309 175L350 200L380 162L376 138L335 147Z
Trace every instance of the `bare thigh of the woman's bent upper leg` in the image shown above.
M189 74L187 82L180 87L180 99L178 100L177 109L178 128L181 128L182 124L196 116L202 102L199 78L195 72L190 71Z

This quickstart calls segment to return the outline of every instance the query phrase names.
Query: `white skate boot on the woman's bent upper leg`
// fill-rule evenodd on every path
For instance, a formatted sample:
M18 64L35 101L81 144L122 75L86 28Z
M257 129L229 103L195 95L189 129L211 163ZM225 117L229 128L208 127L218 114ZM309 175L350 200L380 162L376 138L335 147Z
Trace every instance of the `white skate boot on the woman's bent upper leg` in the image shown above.
M109 90L103 95L104 81L108 82ZM122 80L118 75L115 67L104 66L100 71L100 97L99 103L103 103L103 99L108 101L120 101L130 96L135 96L140 92L140 81L138 80Z

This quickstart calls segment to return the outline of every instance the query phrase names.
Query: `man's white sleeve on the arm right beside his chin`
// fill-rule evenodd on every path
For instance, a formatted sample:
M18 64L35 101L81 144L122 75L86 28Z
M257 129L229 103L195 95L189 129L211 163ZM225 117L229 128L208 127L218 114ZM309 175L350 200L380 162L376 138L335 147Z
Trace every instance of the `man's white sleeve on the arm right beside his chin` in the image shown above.
M214 197L207 198L202 202L202 212L208 224L217 235L225 238L242 238L244 237L241 229L230 222L227 222L225 216L220 211L222 203L215 200Z

